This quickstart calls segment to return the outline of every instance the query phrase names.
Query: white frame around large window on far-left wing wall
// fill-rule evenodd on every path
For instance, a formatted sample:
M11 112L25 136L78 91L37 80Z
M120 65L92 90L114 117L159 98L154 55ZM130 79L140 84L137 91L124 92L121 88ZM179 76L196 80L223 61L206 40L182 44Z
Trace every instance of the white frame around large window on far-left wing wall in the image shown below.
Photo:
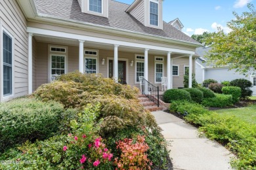
M0 60L0 68L1 68L1 101L5 101L5 100L8 100L9 98L13 97L14 96L14 36L9 32L7 31L7 29L5 29L5 26L3 26L2 23L0 23L1 25L1 43L0 43L0 48L1 48L1 60ZM3 32L5 31L5 33L7 35L9 35L12 39L12 93L10 95L3 95Z

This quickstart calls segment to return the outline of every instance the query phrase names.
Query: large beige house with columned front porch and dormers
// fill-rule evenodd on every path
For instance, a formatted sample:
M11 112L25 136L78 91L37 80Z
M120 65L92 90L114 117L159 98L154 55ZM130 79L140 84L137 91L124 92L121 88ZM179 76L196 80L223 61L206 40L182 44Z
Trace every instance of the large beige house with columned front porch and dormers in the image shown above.
M27 95L75 70L139 87L139 76L183 86L201 44L163 21L162 0L0 1L1 101ZM192 78L190 77L190 80ZM190 86L191 86L190 81Z

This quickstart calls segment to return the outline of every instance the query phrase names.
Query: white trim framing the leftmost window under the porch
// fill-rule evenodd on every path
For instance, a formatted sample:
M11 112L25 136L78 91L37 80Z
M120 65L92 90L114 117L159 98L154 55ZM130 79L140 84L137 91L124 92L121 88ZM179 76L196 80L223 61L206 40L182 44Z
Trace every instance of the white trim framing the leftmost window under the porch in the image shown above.
M66 48L66 52L53 52L51 47L56 46L58 48ZM51 82L51 72L52 72L52 56L64 56L65 57L65 74L68 73L68 46L48 44L48 82Z

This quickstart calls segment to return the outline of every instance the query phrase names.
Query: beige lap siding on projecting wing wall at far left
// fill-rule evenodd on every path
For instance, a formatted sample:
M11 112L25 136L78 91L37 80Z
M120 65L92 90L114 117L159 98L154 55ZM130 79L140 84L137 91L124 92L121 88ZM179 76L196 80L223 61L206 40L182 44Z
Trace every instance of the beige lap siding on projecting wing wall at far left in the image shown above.
M26 18L16 1L0 1L0 21L1 26L14 37L12 97L26 95L28 93L28 33L26 32Z

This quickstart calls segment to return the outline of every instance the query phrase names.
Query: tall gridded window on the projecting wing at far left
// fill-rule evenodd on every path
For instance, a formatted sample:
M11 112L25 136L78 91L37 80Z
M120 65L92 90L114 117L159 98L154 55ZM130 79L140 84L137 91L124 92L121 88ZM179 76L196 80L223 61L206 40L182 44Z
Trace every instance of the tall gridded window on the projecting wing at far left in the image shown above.
M3 31L3 96L12 95L12 37Z

